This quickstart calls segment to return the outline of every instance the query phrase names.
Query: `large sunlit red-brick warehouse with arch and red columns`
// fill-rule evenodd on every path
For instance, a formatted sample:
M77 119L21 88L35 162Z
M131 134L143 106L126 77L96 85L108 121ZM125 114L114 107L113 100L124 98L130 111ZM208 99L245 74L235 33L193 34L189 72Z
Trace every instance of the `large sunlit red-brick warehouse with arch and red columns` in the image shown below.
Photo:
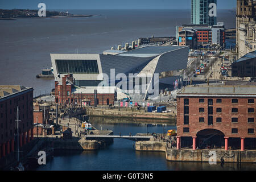
M177 148L255 148L256 86L187 86L177 94Z

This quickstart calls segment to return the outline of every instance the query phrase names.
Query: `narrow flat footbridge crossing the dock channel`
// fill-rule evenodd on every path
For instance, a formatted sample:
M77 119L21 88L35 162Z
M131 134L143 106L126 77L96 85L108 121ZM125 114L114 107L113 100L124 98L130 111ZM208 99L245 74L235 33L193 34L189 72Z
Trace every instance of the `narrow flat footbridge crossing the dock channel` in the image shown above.
M114 138L122 138L122 139L128 139L128 140L133 140L135 142L137 141L145 141L145 140L150 140L153 138L153 136L125 136L125 135L85 135L86 139L89 140L102 140L102 139L114 139Z

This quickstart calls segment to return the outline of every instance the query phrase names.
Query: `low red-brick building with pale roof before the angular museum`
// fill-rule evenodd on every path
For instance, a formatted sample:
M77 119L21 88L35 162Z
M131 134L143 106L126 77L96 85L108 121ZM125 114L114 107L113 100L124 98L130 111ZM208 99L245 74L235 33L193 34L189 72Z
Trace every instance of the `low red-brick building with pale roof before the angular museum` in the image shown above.
M74 84L72 74L62 77L62 81L55 81L55 102L60 105L94 105L94 90L97 90L97 105L114 105L117 93L114 86L79 87Z

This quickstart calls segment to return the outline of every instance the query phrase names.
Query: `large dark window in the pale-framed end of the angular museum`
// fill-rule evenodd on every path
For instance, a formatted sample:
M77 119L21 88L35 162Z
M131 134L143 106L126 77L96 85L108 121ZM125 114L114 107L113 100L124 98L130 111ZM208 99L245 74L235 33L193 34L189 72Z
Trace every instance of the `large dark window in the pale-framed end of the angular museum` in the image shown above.
M55 60L60 74L98 74L97 60Z

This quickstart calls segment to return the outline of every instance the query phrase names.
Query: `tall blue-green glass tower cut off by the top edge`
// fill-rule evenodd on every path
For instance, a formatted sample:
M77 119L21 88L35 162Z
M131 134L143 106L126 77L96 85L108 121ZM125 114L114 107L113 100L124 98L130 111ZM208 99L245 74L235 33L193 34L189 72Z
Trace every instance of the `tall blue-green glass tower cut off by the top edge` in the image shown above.
M212 3L217 5L217 0L191 0L191 24L217 24L217 12Z

